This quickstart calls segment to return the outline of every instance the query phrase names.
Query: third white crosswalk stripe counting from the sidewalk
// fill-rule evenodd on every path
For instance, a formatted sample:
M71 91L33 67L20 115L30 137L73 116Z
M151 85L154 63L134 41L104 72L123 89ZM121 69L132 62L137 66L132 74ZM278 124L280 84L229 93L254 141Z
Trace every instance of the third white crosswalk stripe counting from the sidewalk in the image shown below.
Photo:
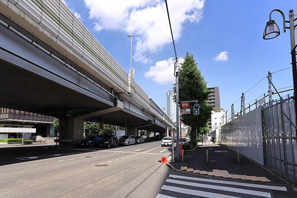
M179 188L179 187L174 187L174 186L166 186L166 185L163 185L161 189L167 190L167 191L173 191L173 192L177 192L177 193L188 194L188 195L201 196L201 197L205 197L205 198L239 198L239 197L234 197L234 196L229 196L229 195L209 193L209 192L184 189L184 188Z

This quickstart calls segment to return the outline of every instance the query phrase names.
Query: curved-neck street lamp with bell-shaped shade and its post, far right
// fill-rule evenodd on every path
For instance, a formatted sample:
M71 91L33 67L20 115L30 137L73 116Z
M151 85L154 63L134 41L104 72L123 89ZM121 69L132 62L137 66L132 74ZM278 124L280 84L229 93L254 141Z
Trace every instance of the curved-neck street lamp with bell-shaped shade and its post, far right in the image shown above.
M271 14L274 11L278 11L283 16L283 25L284 25L284 32L286 32L286 29L290 29L290 37L291 37L291 55L292 55L292 70L293 70L293 85L294 85L294 103L295 103L295 121L297 124L297 68L296 68L296 48L297 45L295 45L295 27L297 25L294 25L294 22L297 20L297 18L294 19L294 11L293 9L290 9L289 11L289 21L285 20L285 14L279 10L274 9L269 14L269 21L266 23L266 27L264 29L263 33L263 39L273 39L277 36L279 36L280 29L276 22L274 20L271 20ZM289 23L289 27L286 27L286 23ZM296 128L296 134L297 134L297 128Z

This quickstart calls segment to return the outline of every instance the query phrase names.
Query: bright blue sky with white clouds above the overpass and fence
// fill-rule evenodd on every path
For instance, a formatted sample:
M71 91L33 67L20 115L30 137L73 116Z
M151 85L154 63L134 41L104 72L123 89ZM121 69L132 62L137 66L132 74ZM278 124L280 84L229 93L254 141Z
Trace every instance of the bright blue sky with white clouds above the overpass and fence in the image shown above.
M127 72L127 35L133 35L134 78L161 108L166 107L166 92L174 83L174 50L165 0L65 2ZM168 0L168 7L177 55L182 59L187 51L194 54L207 86L219 87L221 108L229 110L229 115L231 103L242 93L246 93L246 103L253 103L268 91L267 79L248 91L268 71L291 66L290 31L283 33L281 14L272 14L281 35L272 40L262 37L270 11L281 9L289 20L290 9L297 14L296 0ZM292 69L274 73L272 81L277 89L292 89ZM235 111L240 103L235 103Z

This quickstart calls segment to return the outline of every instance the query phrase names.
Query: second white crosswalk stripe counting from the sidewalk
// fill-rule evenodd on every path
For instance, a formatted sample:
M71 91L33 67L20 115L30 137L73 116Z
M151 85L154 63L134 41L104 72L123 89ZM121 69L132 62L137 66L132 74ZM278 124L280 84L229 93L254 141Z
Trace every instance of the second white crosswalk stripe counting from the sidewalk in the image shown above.
M271 198L270 193L260 192L260 191L252 191L252 190L238 189L238 188L225 187L225 186L214 186L214 185L208 185L208 184L199 184L199 183L193 183L193 182L184 182L184 181L172 180L172 179L167 179L166 182L174 183L174 184L182 184L182 185L187 185L187 186L200 187L200 188L208 188L208 189L215 189L215 190L222 190L222 191L230 191L230 192L235 192L235 193L243 193L243 194L248 194L248 195L262 196L265 198Z

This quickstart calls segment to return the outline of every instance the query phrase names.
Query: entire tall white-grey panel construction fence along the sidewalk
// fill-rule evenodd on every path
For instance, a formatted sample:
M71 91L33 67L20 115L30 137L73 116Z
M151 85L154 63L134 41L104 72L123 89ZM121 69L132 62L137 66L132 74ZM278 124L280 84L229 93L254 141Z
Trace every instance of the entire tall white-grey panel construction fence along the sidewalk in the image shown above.
M223 145L297 181L297 138L293 97L264 103L221 127Z

